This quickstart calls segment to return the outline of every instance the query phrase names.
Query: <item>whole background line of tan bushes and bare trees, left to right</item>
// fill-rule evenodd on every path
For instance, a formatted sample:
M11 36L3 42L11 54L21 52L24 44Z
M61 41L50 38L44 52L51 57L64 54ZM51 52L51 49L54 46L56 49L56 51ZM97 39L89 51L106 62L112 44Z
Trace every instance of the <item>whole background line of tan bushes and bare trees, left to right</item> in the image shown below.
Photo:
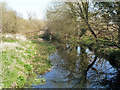
M2 33L47 29L45 37L72 48L79 44L120 48L120 2L56 2L46 11L47 21L32 18L31 13L23 19L5 3L0 6Z

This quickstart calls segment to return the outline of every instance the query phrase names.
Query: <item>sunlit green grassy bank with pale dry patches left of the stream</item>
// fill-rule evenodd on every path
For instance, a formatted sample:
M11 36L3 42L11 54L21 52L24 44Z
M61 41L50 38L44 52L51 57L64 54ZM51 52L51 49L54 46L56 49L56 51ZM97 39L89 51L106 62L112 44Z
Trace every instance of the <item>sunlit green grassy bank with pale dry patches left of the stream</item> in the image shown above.
M2 35L1 43L2 82L0 87L25 87L43 84L37 74L45 73L50 67L49 55L55 47L48 42L28 40L20 34Z

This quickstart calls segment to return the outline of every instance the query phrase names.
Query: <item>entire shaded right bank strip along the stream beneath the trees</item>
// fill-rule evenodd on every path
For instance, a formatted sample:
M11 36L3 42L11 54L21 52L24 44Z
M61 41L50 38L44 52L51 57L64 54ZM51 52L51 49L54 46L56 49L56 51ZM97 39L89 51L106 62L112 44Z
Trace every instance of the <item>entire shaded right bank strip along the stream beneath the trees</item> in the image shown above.
M53 38L51 42L53 41L57 48L61 47L63 50L71 51L77 49L77 47L80 46L81 48L89 48L90 51L94 52L95 48L97 48L97 52L95 54L99 56L99 58L105 58L111 63L113 67L120 68L120 45L117 44L116 41L98 38L96 43L93 37L83 36L79 41L76 41L76 44L69 43L69 46L67 46L68 42L64 42L64 40L59 42L61 39L58 39L57 41L55 40L56 38Z

